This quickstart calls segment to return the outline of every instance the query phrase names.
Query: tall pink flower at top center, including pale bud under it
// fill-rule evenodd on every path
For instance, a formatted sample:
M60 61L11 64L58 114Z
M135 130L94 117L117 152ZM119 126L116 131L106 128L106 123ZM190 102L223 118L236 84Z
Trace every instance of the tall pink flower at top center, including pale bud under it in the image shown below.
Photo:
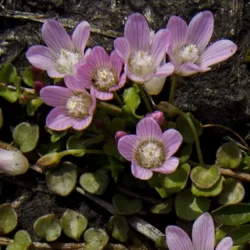
M128 78L144 84L151 95L160 93L165 78L174 71L171 63L165 63L168 45L169 32L165 29L156 34L150 32L145 17L139 13L129 16L124 37L114 41L115 51L125 64Z

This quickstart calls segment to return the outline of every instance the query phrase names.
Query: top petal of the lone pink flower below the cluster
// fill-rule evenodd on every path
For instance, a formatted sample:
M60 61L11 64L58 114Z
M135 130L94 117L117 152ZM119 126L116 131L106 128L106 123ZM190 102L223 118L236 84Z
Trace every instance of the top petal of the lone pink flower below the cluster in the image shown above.
M162 137L162 131L159 124L150 117L143 118L138 122L136 134L140 140L159 139Z

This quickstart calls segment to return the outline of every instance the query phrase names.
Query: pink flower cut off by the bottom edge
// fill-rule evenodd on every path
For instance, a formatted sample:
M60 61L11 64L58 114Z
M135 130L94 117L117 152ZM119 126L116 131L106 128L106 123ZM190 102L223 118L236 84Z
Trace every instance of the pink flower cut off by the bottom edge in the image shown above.
M192 240L185 231L176 226L166 228L169 250L213 250L215 245L214 222L209 213L202 214L193 225ZM233 247L231 237L224 238L216 250L230 250Z

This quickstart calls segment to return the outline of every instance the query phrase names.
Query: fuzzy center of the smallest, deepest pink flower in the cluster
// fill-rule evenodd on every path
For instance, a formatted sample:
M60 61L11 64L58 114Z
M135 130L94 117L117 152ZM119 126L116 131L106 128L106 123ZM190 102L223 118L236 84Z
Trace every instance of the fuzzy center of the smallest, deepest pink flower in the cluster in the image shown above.
M93 76L93 85L97 90L109 91L109 89L117 84L116 74L112 69L97 69Z

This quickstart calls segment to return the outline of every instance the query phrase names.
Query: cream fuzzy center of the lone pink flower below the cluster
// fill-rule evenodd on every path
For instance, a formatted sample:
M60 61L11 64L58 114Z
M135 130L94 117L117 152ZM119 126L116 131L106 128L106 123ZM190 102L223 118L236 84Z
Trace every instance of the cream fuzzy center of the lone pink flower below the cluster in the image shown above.
M143 168L161 167L166 158L164 145L158 141L143 141L136 150L135 158Z

